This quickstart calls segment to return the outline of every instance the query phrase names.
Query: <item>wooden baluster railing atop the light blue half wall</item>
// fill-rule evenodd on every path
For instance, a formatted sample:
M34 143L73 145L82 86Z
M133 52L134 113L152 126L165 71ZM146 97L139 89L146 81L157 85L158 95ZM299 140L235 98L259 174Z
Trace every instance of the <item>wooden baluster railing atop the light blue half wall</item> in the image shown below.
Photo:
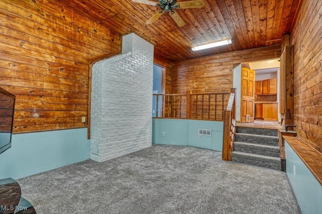
M196 119L223 121L224 106L230 93L153 94L153 118Z

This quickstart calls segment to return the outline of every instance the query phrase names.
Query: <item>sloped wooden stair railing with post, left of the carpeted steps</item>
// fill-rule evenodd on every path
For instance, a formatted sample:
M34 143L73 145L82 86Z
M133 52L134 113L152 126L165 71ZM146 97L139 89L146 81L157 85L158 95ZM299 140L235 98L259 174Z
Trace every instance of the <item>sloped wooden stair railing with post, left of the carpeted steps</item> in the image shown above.
M236 132L235 102L236 88L231 88L227 109L223 114L222 160L226 161L231 161L231 152L233 149L233 141Z

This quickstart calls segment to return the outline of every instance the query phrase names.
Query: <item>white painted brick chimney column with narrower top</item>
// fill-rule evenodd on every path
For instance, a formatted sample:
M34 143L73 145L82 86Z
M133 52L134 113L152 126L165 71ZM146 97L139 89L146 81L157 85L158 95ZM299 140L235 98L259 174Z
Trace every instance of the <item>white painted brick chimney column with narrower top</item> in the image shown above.
M91 159L151 146L152 75L153 45L134 33L123 37L121 55L93 65Z

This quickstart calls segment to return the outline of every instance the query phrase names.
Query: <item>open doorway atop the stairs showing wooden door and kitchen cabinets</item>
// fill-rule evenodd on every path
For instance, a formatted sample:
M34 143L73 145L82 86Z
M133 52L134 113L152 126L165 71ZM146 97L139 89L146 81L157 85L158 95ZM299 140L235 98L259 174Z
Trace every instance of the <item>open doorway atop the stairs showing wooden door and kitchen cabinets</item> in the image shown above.
M243 78L246 73L244 68L255 71L254 97L253 106L252 97L245 101L245 95L250 93L251 84L245 84L247 81ZM244 73L243 73L244 72ZM271 59L265 61L242 63L233 70L233 87L237 89L236 94L236 120L240 124L246 126L280 126L281 121L279 114L279 72L280 63L278 59ZM244 84L243 84L244 82ZM248 88L246 88L246 86ZM247 89L247 90L246 90ZM239 93L238 93L239 92ZM253 108L252 108L253 107ZM254 111L254 120L251 114ZM247 120L247 116L249 119Z

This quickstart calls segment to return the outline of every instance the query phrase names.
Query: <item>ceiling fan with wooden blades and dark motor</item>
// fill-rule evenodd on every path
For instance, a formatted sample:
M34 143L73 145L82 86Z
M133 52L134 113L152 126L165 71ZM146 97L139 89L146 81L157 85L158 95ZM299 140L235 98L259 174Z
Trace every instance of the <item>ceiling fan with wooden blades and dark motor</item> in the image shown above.
M158 2L153 2L149 0L132 0L132 2L142 3L146 5L153 5L159 7L161 11L154 14L146 24L151 24L155 20L157 20L161 15L165 12L169 12L172 19L177 23L179 27L185 25L185 22L182 18L176 13L175 9L188 9L188 8L203 8L205 6L204 0L194 0L188 2L178 2L177 0L159 0Z

